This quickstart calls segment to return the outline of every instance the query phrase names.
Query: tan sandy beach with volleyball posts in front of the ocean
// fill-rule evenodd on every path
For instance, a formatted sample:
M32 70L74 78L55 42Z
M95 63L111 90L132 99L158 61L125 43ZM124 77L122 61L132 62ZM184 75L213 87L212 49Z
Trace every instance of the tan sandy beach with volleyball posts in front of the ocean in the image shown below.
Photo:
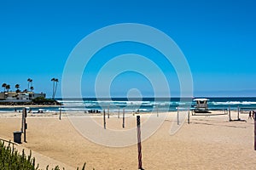
M236 111L232 111L232 119L236 119L236 116ZM142 122L147 121L148 114L141 117ZM190 123L185 121L177 133L170 135L172 123L177 124L176 117L177 112L168 113L156 133L143 141L144 169L255 168L254 125L247 114L240 115L247 122L229 122L228 115L190 115ZM87 118L90 119L90 116ZM154 119L158 118L154 115ZM102 116L93 116L93 119L102 125ZM121 130L121 120L111 115L106 119L107 127ZM20 121L20 113L1 113L0 138L13 141L13 132L20 130ZM75 169L86 162L86 169L137 169L137 144L116 148L93 143L73 127L65 114L61 120L57 113L44 116L32 114L28 115L26 122L27 143L16 147L18 150L32 150L32 155L42 168L49 164L50 167L60 165ZM136 116L125 118L125 128L135 125Z

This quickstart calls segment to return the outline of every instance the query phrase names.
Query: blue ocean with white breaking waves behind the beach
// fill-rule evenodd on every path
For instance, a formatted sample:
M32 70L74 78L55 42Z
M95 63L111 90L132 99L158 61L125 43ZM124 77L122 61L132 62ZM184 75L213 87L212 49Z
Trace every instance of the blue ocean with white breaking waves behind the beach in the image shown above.
M208 109L210 111L223 111L224 109L237 110L237 107L242 111L256 111L256 98L207 98ZM165 99L165 98L143 98L143 99L126 99L126 98L113 98L113 99L56 99L63 105L61 111L83 111L83 112L102 112L108 110L111 112L118 112L125 109L128 112L142 111L177 111L193 109L195 102L193 99ZM21 111L23 107L16 108ZM38 111L37 107L31 108L33 112ZM42 107L44 111L56 112L60 107ZM0 112L12 112L14 108L1 108Z

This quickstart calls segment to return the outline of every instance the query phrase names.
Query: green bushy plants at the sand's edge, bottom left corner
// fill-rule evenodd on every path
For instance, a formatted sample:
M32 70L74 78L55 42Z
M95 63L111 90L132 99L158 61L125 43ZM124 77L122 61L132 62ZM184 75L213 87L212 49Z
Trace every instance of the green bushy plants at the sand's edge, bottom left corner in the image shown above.
M24 150L22 150L22 155L15 150L14 145L11 147L5 145L4 142L0 141L0 169L4 170L39 170L38 166L35 165L35 158L32 157L32 152L30 151L29 156L26 156ZM46 170L49 166L46 167ZM79 167L77 168L79 170ZM85 169L85 163L82 170ZM52 168L52 170L61 170L59 166ZM63 170L65 168L63 167Z

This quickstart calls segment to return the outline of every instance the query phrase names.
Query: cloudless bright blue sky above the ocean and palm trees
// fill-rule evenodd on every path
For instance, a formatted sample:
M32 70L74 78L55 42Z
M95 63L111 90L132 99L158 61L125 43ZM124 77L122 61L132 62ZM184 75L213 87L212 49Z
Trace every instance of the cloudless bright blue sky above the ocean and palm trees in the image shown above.
M62 71L76 44L93 31L119 23L153 26L172 37L188 60L195 96L256 96L254 0L0 1L0 83L9 83L13 90L19 83L23 90L26 79L32 78L35 91L50 97L50 79L56 77L60 97ZM140 53L140 48L144 47L138 45L133 52ZM111 47L105 51L113 53ZM93 95L90 76L98 70L91 71L82 80L84 97ZM151 95L152 87L144 79L125 72L113 81L112 94L140 88L143 95ZM177 80L173 83L175 94Z

